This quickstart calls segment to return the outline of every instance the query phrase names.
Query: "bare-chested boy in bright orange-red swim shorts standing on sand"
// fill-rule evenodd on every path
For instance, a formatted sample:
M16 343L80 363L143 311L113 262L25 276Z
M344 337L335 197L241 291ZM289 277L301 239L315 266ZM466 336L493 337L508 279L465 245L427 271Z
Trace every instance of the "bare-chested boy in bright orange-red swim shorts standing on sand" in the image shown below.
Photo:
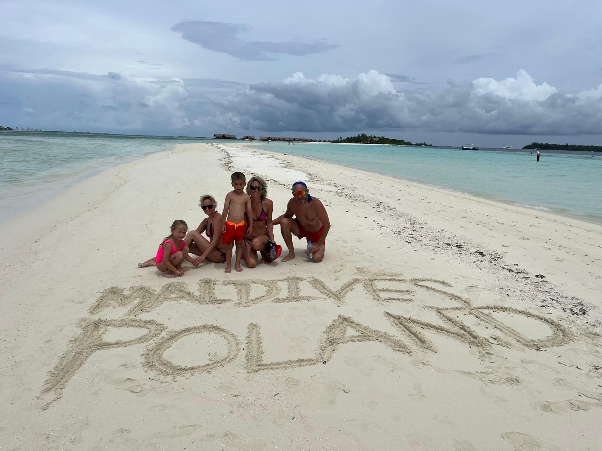
M246 179L241 172L232 174L232 188L226 194L224 209L222 212L222 244L226 245L226 272L232 271L232 248L236 242L236 263L235 268L238 272L243 271L240 266L240 259L243 255L243 236L247 232L244 214L249 218L249 232L253 232L253 211L251 209L251 198L243 189L246 186Z

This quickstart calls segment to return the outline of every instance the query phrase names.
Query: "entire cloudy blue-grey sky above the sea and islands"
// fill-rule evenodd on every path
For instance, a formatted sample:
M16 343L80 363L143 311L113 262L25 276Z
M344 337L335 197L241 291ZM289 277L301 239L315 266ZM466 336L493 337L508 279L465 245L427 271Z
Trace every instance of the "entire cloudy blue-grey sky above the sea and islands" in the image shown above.
M602 2L0 0L0 125L602 145Z

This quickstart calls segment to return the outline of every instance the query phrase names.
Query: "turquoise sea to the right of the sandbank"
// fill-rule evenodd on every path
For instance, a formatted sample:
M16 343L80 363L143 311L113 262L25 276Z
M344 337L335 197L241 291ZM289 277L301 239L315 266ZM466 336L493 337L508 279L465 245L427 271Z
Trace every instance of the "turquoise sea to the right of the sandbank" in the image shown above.
M602 224L602 152L270 143L258 147Z

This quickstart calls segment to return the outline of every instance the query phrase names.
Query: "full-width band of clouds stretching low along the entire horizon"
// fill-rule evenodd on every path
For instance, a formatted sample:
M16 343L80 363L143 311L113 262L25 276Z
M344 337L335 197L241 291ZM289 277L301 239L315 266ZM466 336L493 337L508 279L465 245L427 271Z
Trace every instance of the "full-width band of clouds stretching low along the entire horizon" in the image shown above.
M262 130L347 132L417 130L491 135L598 135L602 85L576 94L536 84L523 70L516 78L448 82L440 93L396 90L389 76L370 70L355 78L295 73L282 82L246 85L212 79L132 79L64 71L0 72L10 93L0 122L27 114L39 127L75 129ZM12 114L8 112L12 111ZM17 114L14 112L17 111ZM21 115L21 116L19 116ZM211 134L211 133L209 133Z

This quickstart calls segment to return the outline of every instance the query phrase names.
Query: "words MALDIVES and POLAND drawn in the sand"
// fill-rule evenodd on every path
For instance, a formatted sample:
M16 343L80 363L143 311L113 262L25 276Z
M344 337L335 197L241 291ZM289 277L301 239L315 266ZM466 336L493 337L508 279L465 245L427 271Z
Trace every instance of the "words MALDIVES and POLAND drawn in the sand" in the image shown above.
M358 269L358 271L362 274L361 269ZM386 286L382 286L383 284ZM234 288L233 296L218 298L216 295L217 285L232 286ZM307 285L310 287L309 289L314 290L312 295L307 293ZM282 292L281 286L286 286L287 289L287 293L284 296L280 296ZM202 373L216 367L224 366L238 357L241 351L240 339L234 333L220 325L199 324L181 330L170 331L166 337L159 339L158 337L167 329L165 325L153 320L133 318L134 315L159 308L164 302L184 301L199 306L231 302L234 307L250 307L258 305L261 302L278 304L307 301L326 301L343 305L346 303L350 292L359 288L362 295L360 299L364 303L403 302L407 303L407 305L415 305L418 308L416 313L430 311L434 312L436 318L438 318L438 323L436 323L426 321L425 319L394 314L387 311L391 309L385 309L383 315L393 325L394 330L401 337L408 340L410 343L408 344L400 337L395 337L386 332L368 327L347 316L338 315L327 325L320 337L315 337L318 341L318 348L314 355L297 360L268 363L264 361L265 352L261 339L261 327L258 324L251 323L247 327L246 345L244 345L246 352L245 369L247 372L257 372L267 369L290 369L326 363L333 357L339 346L355 342L377 342L403 354L411 354L412 351L418 350L437 352L438 349L435 343L429 340L424 331L442 334L442 336L458 340L466 345L476 346L476 349L481 353L486 352L486 349L491 348L491 345L501 345L510 349L518 346L524 349L536 350L542 346L560 346L571 339L569 331L559 324L559 322L550 318L545 318L528 310L518 310L501 305L475 306L469 299L445 291L441 289L442 287L452 287L452 285L446 281L432 278L402 278L391 277L391 275L365 275L364 277L356 277L343 283L338 288L329 287L324 281L315 277L220 281L219 283L211 278L205 278L199 281L197 293L188 290L183 282L168 283L160 290L154 290L146 286L135 286L126 292L126 290L118 287L110 287L101 293L95 304L90 308L90 313L98 314L108 309L128 307L125 318L82 319L82 324L84 325L82 326L81 334L73 340L69 349L61 356L51 375L46 380L45 387L42 390L42 399L46 401L43 408L48 408L54 400L60 398L61 392L69 379L85 363L90 355L103 349L149 343L143 354L144 367L166 375ZM252 291L257 288L263 291L262 295L252 297ZM321 296L315 295L318 293ZM441 300L444 300L447 303L453 301L456 305L453 307L441 307L438 305L423 304L424 299L428 300L429 296L435 303L440 303ZM541 339L529 339L526 334L504 324L498 317L491 314L500 312L538 321L551 330L551 333ZM479 334L474 328L459 321L458 318L460 318L461 313L464 315L473 315L485 324L486 327L495 328L507 336L509 340L498 336L491 336L491 334L487 334L488 336ZM290 326L294 328L294 324ZM114 342L103 340L105 333L110 328L122 327L140 328L145 333L131 340L117 340ZM347 334L349 331L352 331L351 335ZM180 366L173 364L164 357L167 349L178 342L178 340L191 334L202 333L216 334L222 337L227 345L227 355L219 356L215 361L198 366ZM491 339L495 341L492 342ZM412 349L412 345L415 349Z

